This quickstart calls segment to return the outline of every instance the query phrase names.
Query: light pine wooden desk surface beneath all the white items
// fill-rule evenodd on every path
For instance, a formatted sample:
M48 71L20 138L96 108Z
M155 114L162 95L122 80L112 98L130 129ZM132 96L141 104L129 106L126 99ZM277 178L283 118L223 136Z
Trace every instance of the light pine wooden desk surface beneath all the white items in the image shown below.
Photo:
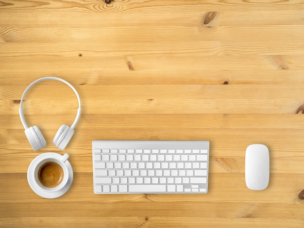
M0 227L304 227L304 3L204 0L0 1ZM26 95L34 151L18 108ZM94 195L91 141L208 140L203 195ZM270 150L270 184L245 185L246 147ZM27 182L44 152L69 153L56 199ZM301 193L302 192L302 193Z

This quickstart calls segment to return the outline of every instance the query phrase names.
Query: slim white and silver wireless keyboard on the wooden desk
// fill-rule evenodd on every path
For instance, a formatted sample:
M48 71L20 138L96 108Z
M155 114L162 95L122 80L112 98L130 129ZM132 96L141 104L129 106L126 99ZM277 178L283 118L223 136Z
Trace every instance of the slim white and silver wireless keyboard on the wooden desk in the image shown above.
M208 141L92 141L95 194L207 193Z

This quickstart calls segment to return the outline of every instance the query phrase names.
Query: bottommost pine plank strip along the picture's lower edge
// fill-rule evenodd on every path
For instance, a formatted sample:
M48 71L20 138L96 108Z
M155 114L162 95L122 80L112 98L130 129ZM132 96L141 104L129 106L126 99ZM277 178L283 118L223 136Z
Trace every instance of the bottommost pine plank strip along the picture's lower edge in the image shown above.
M58 228L65 228L73 226L75 228L83 228L90 223L92 226L100 226L101 224L108 228L116 227L175 227L185 228L189 224L193 224L194 227L213 226L217 224L226 228L243 228L244 224L249 225L252 228L259 228L264 224L269 224L269 228L286 228L292 226L293 228L302 228L302 219L277 219L277 218L205 218L201 216L181 218L181 217L161 217L161 216L128 216L128 217L104 217L104 216L58 216L55 220L53 217L22 217L22 218L4 218L0 221L1 224L10 224L12 228L18 228L20 223L24 222L25 228L40 228L41 226L56 226Z

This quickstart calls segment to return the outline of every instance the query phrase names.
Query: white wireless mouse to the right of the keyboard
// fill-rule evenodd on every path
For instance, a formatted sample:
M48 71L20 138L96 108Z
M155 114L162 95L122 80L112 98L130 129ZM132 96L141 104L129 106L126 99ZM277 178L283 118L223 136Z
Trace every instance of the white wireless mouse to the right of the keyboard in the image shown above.
M245 181L251 190L263 190L269 183L269 150L265 145L252 144L245 154Z

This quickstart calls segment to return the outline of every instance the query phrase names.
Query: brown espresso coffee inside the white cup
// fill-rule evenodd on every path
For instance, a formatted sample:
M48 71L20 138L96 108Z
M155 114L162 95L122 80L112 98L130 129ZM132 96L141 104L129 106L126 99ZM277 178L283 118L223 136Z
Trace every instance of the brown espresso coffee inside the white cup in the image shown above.
M45 187L56 187L63 179L63 170L57 163L45 163L38 171L38 179Z

